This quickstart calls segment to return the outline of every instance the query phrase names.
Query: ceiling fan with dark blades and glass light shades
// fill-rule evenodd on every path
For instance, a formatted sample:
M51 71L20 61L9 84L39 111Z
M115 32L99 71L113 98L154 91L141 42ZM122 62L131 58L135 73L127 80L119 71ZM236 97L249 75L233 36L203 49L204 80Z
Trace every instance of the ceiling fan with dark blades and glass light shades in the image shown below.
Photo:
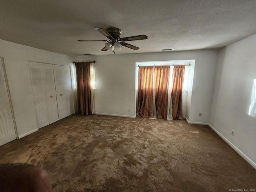
M115 50L118 50L118 51L121 50L121 45L128 47L130 49L133 49L133 50L139 49L138 47L128 44L128 43L125 43L124 41L135 41L135 40L143 40L143 39L148 38L148 36L146 36L146 35L137 35L137 36L121 38L122 31L115 27L108 28L107 30L104 30L102 28L94 28L94 29L98 30L98 32L100 32L101 34L103 34L104 36L109 38L110 40L78 40L78 41L80 41L80 42L83 42L83 41L105 41L105 42L108 42L105 44L105 47L102 48L102 51L111 50L114 54L115 54Z

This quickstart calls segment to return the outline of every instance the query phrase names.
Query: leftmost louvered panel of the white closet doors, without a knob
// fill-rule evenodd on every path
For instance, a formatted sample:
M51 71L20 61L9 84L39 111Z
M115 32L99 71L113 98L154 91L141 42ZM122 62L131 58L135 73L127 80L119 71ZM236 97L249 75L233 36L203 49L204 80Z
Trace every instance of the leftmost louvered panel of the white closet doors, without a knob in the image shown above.
M42 72L42 64L29 62L30 76L32 82L34 103L36 108L36 118L38 128L42 128L49 123L48 109L44 88L44 76Z

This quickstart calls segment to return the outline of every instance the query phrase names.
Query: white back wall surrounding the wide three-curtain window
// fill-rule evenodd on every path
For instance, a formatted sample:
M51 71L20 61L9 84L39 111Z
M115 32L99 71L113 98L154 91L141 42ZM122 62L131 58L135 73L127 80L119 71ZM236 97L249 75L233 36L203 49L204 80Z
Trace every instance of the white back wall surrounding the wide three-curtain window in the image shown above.
M134 117L136 62L196 60L191 103L186 110L186 116L190 122L208 123L217 57L218 50L197 50L82 56L74 57L72 61L96 60L96 113ZM128 108L131 108L131 112ZM202 117L198 117L199 112L202 112Z

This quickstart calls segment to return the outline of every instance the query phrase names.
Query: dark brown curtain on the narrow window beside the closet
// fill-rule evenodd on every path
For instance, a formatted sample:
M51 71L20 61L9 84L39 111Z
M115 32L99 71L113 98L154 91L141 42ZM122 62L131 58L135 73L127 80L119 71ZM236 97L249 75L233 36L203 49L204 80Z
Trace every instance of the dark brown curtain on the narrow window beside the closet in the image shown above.
M76 62L76 113L92 114L90 62Z

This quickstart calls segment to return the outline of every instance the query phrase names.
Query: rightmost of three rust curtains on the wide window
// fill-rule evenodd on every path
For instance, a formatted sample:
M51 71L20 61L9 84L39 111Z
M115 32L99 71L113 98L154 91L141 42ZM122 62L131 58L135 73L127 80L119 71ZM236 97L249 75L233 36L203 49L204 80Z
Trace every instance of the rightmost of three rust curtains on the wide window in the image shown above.
M182 116L182 85L184 80L185 66L174 66L172 73L172 118L183 119Z

